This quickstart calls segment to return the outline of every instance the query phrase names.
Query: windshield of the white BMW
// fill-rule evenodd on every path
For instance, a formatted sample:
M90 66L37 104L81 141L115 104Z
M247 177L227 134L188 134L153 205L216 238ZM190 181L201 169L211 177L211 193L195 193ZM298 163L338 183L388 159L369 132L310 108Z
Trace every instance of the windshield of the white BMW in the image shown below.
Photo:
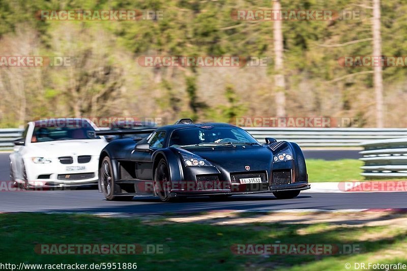
M90 137L88 131L95 129L88 123L87 125L36 125L34 128L31 142L47 142L57 140L79 140L79 139L100 139L99 137Z

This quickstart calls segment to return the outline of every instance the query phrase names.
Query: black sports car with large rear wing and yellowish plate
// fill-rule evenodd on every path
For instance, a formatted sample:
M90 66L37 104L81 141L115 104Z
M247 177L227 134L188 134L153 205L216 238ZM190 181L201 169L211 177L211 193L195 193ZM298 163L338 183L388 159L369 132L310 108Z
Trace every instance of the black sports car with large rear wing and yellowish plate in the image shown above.
M227 197L272 192L293 198L309 189L304 155L292 142L257 142L244 129L226 123L176 124L154 129L96 131L143 134L138 142L110 142L99 159L99 192L108 200L154 194L163 202L193 195Z

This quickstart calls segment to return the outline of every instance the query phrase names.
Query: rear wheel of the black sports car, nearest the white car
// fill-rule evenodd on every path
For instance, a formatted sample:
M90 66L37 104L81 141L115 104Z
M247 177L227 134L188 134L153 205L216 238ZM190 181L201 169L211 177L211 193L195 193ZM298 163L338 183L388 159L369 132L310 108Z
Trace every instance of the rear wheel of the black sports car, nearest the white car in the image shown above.
M122 189L114 183L111 161L108 156L103 158L99 170L99 182L103 195L107 200L132 200L133 196L116 196Z

